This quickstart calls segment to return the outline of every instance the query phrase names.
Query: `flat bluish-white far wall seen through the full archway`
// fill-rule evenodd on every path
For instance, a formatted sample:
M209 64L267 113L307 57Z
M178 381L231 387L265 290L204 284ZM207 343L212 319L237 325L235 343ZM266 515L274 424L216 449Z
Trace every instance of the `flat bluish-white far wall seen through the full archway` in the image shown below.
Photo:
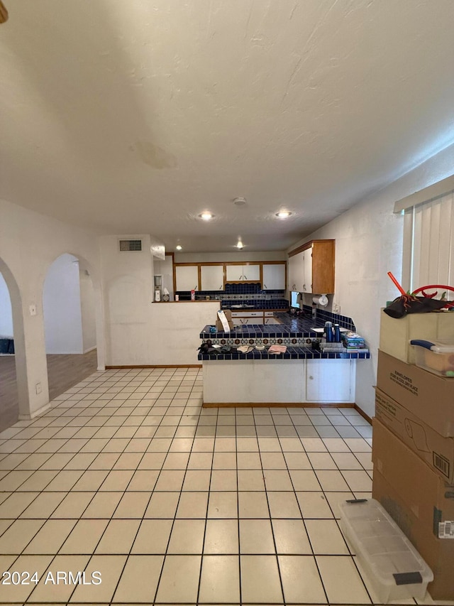
M48 354L82 354L79 261L72 254L55 259L43 292L45 347Z

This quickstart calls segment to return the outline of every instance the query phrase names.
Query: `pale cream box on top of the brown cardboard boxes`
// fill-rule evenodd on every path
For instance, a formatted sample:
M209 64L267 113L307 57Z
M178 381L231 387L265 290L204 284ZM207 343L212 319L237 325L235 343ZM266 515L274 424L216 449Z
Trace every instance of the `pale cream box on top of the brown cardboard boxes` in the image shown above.
M433 311L410 313L404 318L390 318L381 312L379 348L407 364L415 363L414 347L411 339L454 339L454 313Z

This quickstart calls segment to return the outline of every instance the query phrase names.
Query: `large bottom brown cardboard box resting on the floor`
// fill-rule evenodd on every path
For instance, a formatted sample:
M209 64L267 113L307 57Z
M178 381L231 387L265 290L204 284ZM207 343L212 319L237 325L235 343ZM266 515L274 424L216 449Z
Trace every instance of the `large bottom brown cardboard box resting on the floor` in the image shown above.
M372 497L383 505L431 568L431 597L453 600L454 486L436 475L377 419L373 429ZM443 534L450 538L440 538Z

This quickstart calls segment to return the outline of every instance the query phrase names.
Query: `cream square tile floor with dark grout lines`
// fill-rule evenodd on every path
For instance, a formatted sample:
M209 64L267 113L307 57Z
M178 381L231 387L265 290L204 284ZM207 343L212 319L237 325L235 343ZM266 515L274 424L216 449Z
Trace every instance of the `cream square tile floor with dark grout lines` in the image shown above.
M337 519L370 496L367 422L201 391L198 369L96 372L0 434L0 569L37 573L1 604L379 603Z

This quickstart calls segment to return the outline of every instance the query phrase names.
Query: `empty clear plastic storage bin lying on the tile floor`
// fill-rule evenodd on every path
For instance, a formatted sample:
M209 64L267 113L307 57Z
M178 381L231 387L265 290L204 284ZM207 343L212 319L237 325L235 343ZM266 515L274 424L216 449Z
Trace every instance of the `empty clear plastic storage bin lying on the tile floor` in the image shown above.
M341 503L341 529L383 604L423 600L433 573L378 501Z

